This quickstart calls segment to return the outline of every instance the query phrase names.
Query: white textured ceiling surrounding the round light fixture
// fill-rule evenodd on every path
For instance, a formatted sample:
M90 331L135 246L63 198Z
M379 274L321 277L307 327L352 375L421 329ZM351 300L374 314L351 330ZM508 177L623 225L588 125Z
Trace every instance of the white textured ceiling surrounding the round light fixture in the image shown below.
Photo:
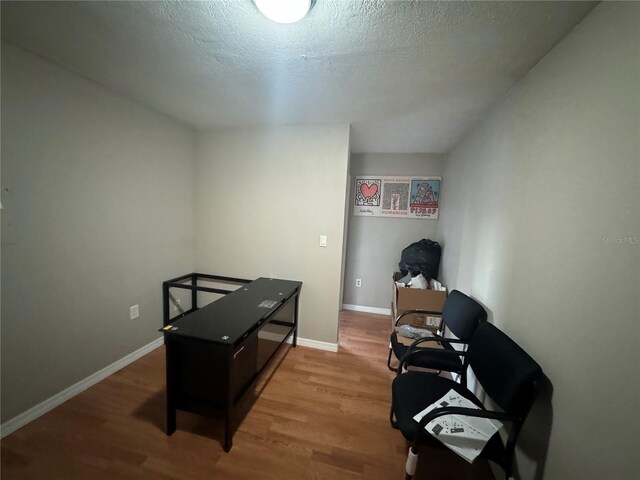
M2 38L200 129L350 123L354 152L446 152L594 2L2 2Z

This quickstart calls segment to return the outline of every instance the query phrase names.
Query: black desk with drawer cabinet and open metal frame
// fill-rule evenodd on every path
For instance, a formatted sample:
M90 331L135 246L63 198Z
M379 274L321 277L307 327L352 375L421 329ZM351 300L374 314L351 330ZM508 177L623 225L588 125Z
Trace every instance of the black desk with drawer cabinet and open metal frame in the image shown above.
M224 451L231 449L243 395L289 337L296 345L301 288L302 282L259 278L163 327L167 435L176 430L177 409L205 414L222 410Z

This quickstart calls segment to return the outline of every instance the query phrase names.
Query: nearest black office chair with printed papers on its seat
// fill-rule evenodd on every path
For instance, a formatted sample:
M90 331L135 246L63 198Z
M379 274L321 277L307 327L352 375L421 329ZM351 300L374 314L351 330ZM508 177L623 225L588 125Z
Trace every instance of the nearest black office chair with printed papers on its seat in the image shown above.
M459 341L453 340L451 343ZM434 418L447 414L493 418L510 427L506 444L503 444L500 432L495 433L479 458L495 462L504 470L505 478L511 478L515 444L536 396L536 381L542 374L540 366L498 328L487 322L480 323L468 349L460 354L465 358L465 366L473 369L484 392L501 409L493 411L487 410L467 388L466 368L462 383L416 370L402 373L403 367L411 364L411 357L420 354L419 350L413 350L402 359L398 370L400 373L392 385L392 412L396 425L402 435L412 443L407 458L406 478L412 478L415 473L420 445L446 448L425 430L425 425ZM425 415L420 422L413 419L416 414L440 400L452 389L477 405L479 410L439 407Z

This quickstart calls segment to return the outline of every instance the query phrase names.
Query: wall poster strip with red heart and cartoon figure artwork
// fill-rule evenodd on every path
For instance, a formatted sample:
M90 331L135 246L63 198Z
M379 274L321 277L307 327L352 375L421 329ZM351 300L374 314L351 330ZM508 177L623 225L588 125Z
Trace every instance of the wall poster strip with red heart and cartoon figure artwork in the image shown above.
M356 177L353 214L437 219L442 177Z

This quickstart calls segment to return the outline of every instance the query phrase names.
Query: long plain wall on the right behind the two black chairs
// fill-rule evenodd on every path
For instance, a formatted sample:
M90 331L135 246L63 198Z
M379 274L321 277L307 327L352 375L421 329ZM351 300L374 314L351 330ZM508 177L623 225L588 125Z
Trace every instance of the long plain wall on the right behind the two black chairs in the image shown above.
M640 472L639 25L597 6L445 163L444 281L548 377L522 478Z

